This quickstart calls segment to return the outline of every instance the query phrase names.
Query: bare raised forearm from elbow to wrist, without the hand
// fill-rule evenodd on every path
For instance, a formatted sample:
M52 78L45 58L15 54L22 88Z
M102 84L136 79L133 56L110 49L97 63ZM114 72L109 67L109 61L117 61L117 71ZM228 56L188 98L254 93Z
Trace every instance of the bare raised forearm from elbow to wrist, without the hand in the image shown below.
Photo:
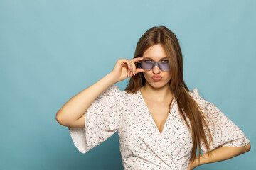
M85 115L87 108L89 108L92 102L95 101L97 96L102 94L103 91L115 83L114 74L110 72L100 79L100 81L97 81L95 84L92 84L83 91L80 91L80 93L73 96L73 98L70 98L70 100L67 101L57 112L56 120L60 125L80 127L80 123L77 123L76 121ZM82 123L84 120L80 122Z

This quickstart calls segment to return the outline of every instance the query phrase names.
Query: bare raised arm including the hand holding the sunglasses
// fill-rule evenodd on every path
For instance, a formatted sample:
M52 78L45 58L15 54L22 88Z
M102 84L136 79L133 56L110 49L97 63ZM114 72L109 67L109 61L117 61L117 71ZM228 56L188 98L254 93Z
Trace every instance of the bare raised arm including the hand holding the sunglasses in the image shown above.
M85 112L87 108L95 101L95 99L102 94L108 87L119 81L131 77L132 74L145 72L144 69L136 68L134 62L143 60L143 57L133 58L132 60L119 59L114 65L112 72L97 81L92 86L87 87L79 94L70 98L56 114L56 120L60 125L79 128L84 127ZM130 74L132 73L132 74Z

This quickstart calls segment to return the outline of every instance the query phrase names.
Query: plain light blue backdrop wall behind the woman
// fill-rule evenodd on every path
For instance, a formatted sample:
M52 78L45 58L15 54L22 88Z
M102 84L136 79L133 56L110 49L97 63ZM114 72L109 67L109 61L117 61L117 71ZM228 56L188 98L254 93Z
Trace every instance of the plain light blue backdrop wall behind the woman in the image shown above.
M123 169L118 135L81 154L55 120L63 104L132 59L140 36L177 35L184 79L252 149L196 169L253 169L256 1L0 1L0 169ZM118 82L124 90L128 79Z

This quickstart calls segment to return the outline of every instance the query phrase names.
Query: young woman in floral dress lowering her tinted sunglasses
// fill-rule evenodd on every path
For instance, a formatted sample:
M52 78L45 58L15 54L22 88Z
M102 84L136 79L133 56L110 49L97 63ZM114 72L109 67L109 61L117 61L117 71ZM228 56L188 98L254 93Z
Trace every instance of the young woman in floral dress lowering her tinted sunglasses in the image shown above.
M129 77L124 91L113 85ZM165 26L147 30L132 60L117 60L112 72L70 98L56 120L82 153L118 131L124 169L193 169L250 150L237 125L198 89L188 89L181 48Z

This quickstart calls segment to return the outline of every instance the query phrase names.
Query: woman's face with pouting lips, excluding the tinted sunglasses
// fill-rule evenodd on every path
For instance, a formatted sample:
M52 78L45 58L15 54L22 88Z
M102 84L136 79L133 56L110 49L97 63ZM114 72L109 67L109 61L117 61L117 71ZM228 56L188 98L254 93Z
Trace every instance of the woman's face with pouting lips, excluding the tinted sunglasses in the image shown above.
M166 57L166 52L164 47L161 44L152 45L149 47L143 54L142 57L145 60L154 60L155 62L159 62L160 60L168 60ZM170 70L161 70L158 66L154 66L153 69L143 72L144 77L146 79L146 84L154 87L154 88L161 88L169 84L171 80L171 72ZM161 79L154 79L154 77L161 77Z

